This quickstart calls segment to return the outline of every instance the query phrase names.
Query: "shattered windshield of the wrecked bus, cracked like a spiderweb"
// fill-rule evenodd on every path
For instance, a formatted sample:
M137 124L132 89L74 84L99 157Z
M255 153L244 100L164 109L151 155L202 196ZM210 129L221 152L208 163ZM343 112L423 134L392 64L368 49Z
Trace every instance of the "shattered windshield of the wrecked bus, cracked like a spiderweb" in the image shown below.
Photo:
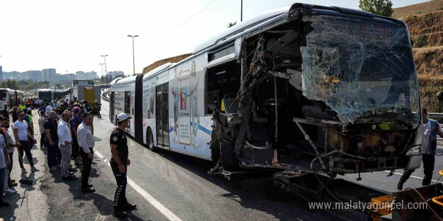
M303 95L324 101L340 121L407 111L419 120L418 79L405 28L372 21L307 16ZM367 118L366 118L367 119Z

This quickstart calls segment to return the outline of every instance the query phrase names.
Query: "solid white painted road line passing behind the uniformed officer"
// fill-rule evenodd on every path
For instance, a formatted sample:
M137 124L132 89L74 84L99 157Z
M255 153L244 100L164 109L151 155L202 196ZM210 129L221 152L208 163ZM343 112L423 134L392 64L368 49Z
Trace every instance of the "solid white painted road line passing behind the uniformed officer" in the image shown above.
M104 158L102 154L98 151L94 151L97 156L99 156L105 163L111 167L111 164L109 164L108 159ZM146 201L151 203L157 210L159 210L163 215L166 216L167 219L171 221L182 221L177 215L171 212L168 208L166 208L162 203L160 203L157 199L155 199L151 194L147 193L143 188L141 188L139 185L137 185L131 178L127 177L128 184L137 191L141 196L143 196Z

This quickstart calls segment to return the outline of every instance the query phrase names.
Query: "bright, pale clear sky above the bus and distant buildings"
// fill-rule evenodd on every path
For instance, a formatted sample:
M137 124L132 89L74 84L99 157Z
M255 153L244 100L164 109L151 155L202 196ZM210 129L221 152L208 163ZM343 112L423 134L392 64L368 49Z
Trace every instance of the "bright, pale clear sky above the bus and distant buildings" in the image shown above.
M243 20L295 2L243 0ZM394 8L422 2L427 0L392 0ZM358 9L358 0L305 3ZM157 60L192 52L235 21L240 22L240 0L2 0L0 66L3 71L55 68L62 74L81 70L100 75L100 55L108 55L108 71L132 74L127 35L139 35L134 41L135 72L140 73Z

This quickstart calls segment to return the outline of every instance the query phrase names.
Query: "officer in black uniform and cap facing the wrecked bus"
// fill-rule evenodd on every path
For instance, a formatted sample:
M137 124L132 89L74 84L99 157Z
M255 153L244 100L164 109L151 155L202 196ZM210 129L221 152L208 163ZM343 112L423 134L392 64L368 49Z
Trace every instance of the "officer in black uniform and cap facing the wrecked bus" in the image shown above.
M112 131L109 140L112 154L112 159L109 162L117 181L117 189L114 195L114 215L117 217L126 217L127 213L124 210L135 209L137 206L128 203L126 199L126 172L131 161L128 159L128 140L124 129L128 126L131 118L123 113L117 115L117 127Z

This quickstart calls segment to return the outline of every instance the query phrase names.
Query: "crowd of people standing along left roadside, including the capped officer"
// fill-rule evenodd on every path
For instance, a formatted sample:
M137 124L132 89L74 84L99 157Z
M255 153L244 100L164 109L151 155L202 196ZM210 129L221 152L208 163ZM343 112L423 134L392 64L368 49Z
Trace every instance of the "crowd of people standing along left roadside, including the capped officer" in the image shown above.
M30 101L31 102L31 101ZM37 106L24 107L17 106L11 108L13 119L13 136L8 129L10 127L10 112L5 110L0 112L0 189L4 194L0 194L0 206L9 206L9 203L3 200L7 194L15 194L16 190L10 187L17 186L15 179L11 177L13 169L14 152L18 151L18 160L21 167L21 173L27 174L28 170L24 167L23 158L29 162L30 171L39 171L33 162L31 150L37 141L34 138L34 125L32 120L32 109L37 109L39 116L38 130L40 133L40 150L47 152L47 164L49 171L60 170L63 181L77 180L72 168L71 160L75 165L83 165L81 175L82 192L95 192L93 185L89 183L89 175L95 145L93 114L100 116L100 103L93 104L94 108L88 104L87 100L81 102L45 102L34 100ZM22 103L23 104L23 103ZM95 112L93 111L95 109ZM117 181L117 189L114 197L114 215L125 217L127 213L124 209L134 209L136 205L127 202L125 197L126 189L126 167L130 164L127 159L128 149L127 140L124 135L124 128L127 127L130 117L125 114L117 116L118 127L112 132L110 139L112 160L110 161L112 171ZM122 175L123 174L123 175Z

